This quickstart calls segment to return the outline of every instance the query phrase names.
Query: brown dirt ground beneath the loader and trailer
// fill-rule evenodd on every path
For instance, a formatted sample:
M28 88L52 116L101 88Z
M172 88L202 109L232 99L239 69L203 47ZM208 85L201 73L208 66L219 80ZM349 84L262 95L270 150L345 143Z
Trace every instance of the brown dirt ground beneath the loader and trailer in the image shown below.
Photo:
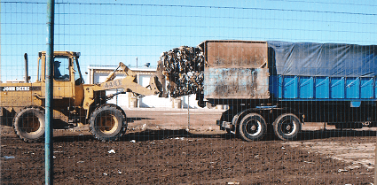
M101 143L54 132L55 184L371 184L374 128L303 126L299 140L247 143L218 130L221 110L125 110L129 130ZM187 129L189 128L189 129ZM1 130L1 182L44 183L44 144Z

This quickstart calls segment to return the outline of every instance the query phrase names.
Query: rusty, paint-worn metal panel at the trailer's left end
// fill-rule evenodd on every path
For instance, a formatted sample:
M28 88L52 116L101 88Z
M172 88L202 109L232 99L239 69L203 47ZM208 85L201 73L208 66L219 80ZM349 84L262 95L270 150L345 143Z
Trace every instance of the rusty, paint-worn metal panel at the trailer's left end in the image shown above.
M267 99L267 42L206 41L204 97L208 99Z

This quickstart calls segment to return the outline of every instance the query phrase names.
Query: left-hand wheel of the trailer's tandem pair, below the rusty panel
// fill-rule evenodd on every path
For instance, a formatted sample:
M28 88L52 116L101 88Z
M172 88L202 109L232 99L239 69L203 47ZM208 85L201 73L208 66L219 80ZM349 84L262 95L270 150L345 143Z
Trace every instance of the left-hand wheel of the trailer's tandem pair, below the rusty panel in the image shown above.
M247 142L261 140L267 132L266 121L257 113L249 113L240 121L239 131Z

